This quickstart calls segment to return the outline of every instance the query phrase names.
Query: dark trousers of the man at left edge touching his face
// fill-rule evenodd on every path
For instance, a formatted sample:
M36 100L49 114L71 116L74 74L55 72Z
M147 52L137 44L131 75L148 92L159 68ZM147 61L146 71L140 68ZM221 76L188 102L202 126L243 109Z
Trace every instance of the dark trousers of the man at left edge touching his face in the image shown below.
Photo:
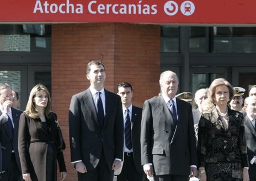
M12 160L10 161L10 165L6 171L0 174L1 181L22 181L22 173L19 171L19 167L17 165L15 154L12 153Z

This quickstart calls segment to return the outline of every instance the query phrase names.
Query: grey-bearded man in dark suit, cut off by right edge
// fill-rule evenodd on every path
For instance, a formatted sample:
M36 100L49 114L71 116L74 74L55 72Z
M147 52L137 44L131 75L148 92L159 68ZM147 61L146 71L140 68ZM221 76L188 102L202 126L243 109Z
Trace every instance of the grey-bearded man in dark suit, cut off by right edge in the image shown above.
M250 181L256 181L256 96L247 98L246 116L244 117L244 127L246 131L246 145L249 164Z

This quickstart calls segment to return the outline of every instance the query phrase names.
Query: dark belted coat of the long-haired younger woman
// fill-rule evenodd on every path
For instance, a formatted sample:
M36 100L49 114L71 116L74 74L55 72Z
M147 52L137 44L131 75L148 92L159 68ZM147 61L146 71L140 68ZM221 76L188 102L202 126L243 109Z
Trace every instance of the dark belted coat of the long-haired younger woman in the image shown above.
M33 181L46 180L46 153L49 145L54 150L55 180L57 181L57 161L60 172L66 172L63 152L57 152L55 144L57 126L52 114L55 113L51 113L50 119L46 118L46 122L49 124L49 133L39 118L30 118L26 113L20 116L18 146L22 173L30 173Z

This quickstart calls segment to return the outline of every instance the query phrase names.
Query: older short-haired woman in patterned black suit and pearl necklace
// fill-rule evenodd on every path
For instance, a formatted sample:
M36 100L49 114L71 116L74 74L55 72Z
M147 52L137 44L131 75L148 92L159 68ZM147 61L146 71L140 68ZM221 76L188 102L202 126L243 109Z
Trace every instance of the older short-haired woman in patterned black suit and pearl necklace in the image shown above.
M199 178L202 181L248 181L243 114L227 105L233 87L215 79L209 87L214 107L202 112L198 130Z

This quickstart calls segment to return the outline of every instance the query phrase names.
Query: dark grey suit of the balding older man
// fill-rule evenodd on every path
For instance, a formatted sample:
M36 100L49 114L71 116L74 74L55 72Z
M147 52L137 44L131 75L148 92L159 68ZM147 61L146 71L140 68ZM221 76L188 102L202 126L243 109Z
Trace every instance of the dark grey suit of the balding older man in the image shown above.
M196 139L191 104L177 100L175 127L163 96L146 100L141 120L141 161L152 163L154 175L190 174L197 165Z

